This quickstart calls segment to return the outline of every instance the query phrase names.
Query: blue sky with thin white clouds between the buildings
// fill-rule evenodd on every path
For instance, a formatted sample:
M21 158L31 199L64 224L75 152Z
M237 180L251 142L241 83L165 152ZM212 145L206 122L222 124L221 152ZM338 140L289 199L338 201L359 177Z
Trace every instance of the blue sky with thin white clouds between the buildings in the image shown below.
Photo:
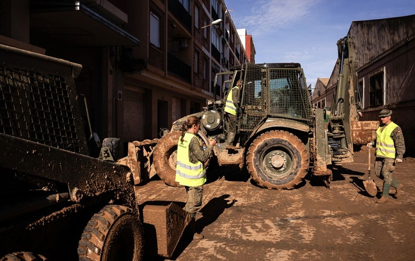
M330 77L352 21L415 14L415 0L225 0L254 40L256 63L296 62L312 88ZM233 11L232 11L233 10Z

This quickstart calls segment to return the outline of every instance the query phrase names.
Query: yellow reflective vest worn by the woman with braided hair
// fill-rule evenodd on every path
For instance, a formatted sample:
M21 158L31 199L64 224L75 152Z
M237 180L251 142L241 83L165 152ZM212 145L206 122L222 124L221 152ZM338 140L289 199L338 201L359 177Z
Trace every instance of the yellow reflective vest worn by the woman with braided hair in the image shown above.
M177 143L176 182L189 187L197 187L206 182L206 171L203 163L200 161L192 163L190 161L189 144L193 137L196 137L196 135L186 132L183 142L180 141L180 137ZM199 138L197 139L200 143Z

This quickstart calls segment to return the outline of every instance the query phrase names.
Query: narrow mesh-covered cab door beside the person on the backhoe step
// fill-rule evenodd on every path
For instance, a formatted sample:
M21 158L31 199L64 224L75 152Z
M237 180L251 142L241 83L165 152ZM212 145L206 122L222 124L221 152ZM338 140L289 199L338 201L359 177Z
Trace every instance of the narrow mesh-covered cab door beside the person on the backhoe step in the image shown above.
M246 114L240 120L239 130L251 132L266 116L266 85L266 68L248 63L241 102Z

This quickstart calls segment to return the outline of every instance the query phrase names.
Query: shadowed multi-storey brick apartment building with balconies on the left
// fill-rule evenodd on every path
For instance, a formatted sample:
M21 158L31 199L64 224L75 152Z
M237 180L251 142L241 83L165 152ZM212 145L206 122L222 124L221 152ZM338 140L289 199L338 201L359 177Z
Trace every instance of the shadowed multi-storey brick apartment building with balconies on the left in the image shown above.
M0 43L82 64L76 86L94 131L124 145L202 110L215 90L222 96L215 73L247 59L223 0L2 0L0 8Z

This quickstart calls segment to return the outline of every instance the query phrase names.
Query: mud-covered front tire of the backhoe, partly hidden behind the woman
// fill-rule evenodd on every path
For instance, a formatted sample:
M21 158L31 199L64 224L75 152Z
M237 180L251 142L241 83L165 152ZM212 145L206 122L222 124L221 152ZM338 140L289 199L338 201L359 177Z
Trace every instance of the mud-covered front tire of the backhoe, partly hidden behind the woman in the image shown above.
M181 187L176 182L176 161L177 161L177 141L180 132L170 132L165 134L153 152L154 168L157 175L168 185Z

